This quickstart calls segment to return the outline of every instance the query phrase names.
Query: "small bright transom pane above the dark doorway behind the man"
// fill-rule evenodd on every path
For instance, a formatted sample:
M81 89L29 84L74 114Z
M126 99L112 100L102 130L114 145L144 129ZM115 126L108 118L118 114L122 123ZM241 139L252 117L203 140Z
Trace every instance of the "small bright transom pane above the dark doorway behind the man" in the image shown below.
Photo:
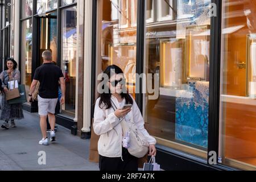
M36 13L42 14L46 11L57 9L58 1L57 0L37 0L36 4Z

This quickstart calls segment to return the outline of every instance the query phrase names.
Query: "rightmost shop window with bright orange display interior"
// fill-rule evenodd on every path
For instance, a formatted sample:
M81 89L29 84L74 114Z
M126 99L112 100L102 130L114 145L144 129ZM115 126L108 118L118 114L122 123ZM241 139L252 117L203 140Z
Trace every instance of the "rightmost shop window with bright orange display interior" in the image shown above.
M222 162L256 169L256 1L226 0L222 7Z

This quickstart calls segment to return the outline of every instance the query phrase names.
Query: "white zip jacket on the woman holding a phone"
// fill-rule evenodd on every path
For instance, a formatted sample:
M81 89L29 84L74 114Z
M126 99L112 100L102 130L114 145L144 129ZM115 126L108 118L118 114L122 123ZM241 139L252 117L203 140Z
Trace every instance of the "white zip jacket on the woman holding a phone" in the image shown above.
M121 108L125 104L125 100L119 103L114 96L112 96L112 101L117 108ZM147 137L148 143L156 144L155 138L151 137L144 128L144 120L139 107L134 100L133 102L131 111L126 115L125 120L129 122L134 121L138 129ZM99 103L100 98L96 101L93 123L94 132L96 135L100 135L98 153L108 158L120 158L122 157L122 126L120 119L115 116L112 107L101 109Z

